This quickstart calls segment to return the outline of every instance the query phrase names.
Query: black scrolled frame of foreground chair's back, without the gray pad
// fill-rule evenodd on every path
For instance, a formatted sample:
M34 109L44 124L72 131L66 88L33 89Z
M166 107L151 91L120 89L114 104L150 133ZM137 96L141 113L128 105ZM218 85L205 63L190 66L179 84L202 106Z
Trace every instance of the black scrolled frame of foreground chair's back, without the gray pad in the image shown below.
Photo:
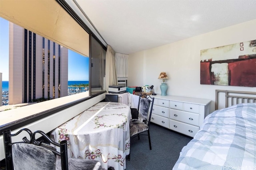
M6 169L7 170L14 170L13 163L12 163L12 145L15 144L15 143L12 143L12 137L17 136L22 131L26 131L28 133L28 135L30 136L30 140L28 140L27 137L23 137L23 139L22 139L23 142L21 141L21 142L15 142L15 143L28 143L28 144L31 144L31 145L37 145L37 146L40 146L40 147L44 147L48 150L51 150L54 154L60 156L62 170L68 170L67 141L64 140L64 141L61 141L60 143L56 143L52 139L50 139L50 137L48 137L48 135L46 135L44 132L35 131L34 133L32 133L32 131L30 131L30 129L27 129L27 128L20 129L20 131L18 131L15 134L11 134L10 130L6 130L6 131L3 132L5 162L6 162ZM53 150L53 149L50 149L48 147L45 147L44 145L41 145L44 142L44 140L37 141L35 139L36 133L39 133L40 135L42 135L46 139L46 141L48 141L49 143L52 143L53 145L56 145L56 146L60 147L60 152L57 152L56 150Z

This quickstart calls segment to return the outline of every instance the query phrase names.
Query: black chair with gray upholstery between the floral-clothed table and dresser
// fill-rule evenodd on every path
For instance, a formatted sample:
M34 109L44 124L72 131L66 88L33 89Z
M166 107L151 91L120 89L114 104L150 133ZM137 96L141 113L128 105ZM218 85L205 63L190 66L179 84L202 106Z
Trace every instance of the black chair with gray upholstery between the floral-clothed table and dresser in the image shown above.
M139 119L132 119L130 121L130 137L138 136L138 139L140 139L140 135L148 135L150 150L152 150L152 147L149 126L153 104L154 98L151 98L149 95L147 95L146 98L140 98ZM147 132L147 134L141 134L144 132Z

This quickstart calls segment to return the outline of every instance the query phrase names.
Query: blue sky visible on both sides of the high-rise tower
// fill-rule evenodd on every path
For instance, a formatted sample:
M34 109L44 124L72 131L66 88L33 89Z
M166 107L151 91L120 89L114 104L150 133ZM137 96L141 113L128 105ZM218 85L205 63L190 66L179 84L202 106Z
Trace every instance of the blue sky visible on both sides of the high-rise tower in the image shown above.
M0 72L9 80L9 21L0 18ZM68 80L89 80L89 57L68 50Z

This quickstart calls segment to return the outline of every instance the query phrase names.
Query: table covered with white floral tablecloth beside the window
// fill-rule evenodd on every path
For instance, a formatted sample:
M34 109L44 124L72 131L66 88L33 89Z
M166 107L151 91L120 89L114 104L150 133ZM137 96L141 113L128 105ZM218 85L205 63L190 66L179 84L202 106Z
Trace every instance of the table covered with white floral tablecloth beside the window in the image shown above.
M56 142L68 141L68 156L100 161L102 168L126 168L130 153L130 107L100 102L51 132Z

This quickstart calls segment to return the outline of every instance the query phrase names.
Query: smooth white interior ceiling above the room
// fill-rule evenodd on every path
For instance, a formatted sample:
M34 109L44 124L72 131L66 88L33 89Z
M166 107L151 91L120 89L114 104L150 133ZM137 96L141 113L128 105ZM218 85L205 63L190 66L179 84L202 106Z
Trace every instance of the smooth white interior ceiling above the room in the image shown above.
M106 44L123 54L159 47L256 19L256 0L73 2L89 18Z

